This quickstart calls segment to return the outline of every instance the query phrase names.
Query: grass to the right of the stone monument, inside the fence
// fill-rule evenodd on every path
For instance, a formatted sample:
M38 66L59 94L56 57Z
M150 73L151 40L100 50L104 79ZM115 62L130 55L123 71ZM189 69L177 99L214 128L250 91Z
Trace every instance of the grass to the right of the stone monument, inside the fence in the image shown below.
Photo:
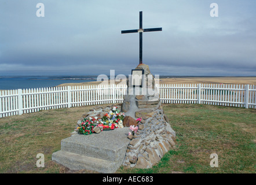
M150 169L119 173L255 173L256 110L213 105L164 105L177 145ZM218 168L210 155L218 154Z

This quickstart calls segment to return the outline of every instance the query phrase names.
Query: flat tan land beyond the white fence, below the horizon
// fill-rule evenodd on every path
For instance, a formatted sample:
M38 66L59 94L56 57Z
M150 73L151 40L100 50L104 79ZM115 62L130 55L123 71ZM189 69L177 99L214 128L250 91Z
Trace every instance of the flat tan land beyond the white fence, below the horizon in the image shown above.
M159 80L160 84L256 84L256 77L173 77ZM119 84L120 82L115 82ZM126 82L121 82L126 83ZM100 82L64 83L58 86L90 86Z

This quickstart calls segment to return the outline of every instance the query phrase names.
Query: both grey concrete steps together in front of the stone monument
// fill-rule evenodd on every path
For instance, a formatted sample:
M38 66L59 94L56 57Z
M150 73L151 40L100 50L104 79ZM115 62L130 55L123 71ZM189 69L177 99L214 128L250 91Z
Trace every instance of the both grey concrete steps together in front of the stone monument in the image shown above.
M61 150L52 154L52 160L72 170L114 173L125 160L128 133L125 127L99 134L75 134L61 140Z

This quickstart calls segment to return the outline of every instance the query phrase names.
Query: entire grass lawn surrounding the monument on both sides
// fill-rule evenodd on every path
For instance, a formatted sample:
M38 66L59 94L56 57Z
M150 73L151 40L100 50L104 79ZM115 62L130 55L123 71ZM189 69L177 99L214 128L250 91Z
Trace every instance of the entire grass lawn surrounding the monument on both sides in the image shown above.
M61 139L92 106L52 109L0 119L0 173L75 173L51 161ZM214 105L167 104L164 113L176 132L177 145L149 169L116 173L255 173L256 109ZM36 167L36 154L45 168ZM210 154L218 154L218 168ZM77 171L76 173L90 173Z

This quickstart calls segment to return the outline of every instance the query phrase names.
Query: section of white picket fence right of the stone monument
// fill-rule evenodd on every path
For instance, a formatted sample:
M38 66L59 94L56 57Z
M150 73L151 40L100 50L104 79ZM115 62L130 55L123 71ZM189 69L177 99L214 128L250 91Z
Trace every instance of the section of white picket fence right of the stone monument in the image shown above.
M203 103L256 108L256 86L243 84L160 84L162 103Z

